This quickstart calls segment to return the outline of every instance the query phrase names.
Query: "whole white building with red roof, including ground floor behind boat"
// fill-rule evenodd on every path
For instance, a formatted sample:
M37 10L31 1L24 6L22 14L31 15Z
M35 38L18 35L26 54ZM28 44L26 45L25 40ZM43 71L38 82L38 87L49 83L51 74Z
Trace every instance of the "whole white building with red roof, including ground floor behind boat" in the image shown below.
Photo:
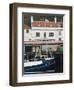
M62 21L56 16L53 20L34 20L31 16L31 27L24 25L24 53L35 52L41 57L44 51L55 51L59 45L63 45L63 16Z

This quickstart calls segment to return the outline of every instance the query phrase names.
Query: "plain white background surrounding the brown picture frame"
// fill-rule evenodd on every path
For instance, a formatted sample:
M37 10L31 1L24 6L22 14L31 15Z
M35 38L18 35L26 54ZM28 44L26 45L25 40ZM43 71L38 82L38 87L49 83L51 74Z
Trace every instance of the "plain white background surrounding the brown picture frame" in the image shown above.
M40 90L40 89L74 90L74 78L73 83L71 84L54 84L54 85L39 85L26 87L9 86L9 3L12 2L72 5L74 11L74 0L0 0L0 90ZM74 31L73 31L73 38L74 38ZM73 46L74 46L74 39L73 39ZM74 53L73 53L73 60L74 60ZM73 68L74 68L74 61L73 61ZM73 69L73 76L74 76L74 69Z

